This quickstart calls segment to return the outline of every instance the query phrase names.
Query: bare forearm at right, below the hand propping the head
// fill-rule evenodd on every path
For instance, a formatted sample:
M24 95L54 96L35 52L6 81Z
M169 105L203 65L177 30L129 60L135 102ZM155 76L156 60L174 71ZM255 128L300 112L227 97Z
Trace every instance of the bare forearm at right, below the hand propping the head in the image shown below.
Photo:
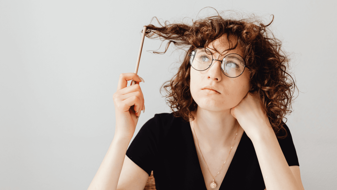
M266 189L302 190L289 168L271 127L266 127L259 137L252 139L252 142Z

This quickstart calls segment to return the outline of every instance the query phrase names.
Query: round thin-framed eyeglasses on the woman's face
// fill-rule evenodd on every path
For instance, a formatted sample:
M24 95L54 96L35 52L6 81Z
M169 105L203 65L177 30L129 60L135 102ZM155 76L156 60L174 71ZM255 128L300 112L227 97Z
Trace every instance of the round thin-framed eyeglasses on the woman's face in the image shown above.
M197 48L188 56L190 56L189 63L197 71L208 69L212 65L213 60L220 61L222 73L231 78L240 76L246 67L243 58L236 53L226 55L221 61L213 59L211 51L207 48Z

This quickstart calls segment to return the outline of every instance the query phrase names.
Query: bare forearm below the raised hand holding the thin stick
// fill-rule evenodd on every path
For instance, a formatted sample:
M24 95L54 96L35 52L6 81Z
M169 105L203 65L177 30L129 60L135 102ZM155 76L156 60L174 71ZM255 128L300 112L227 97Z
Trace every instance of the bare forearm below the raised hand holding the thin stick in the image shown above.
M115 133L108 152L99 166L88 190L116 190L130 141L131 139L129 137L117 136Z

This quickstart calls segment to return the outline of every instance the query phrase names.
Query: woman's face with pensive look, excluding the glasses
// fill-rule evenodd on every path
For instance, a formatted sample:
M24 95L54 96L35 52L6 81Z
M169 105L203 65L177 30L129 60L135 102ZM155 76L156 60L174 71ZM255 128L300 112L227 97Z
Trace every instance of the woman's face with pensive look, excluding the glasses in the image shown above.
M235 38L230 39L232 42L236 42ZM243 57L239 46L234 50L224 52L229 49L226 34L214 40L207 49L212 52L213 59L217 60L222 60L230 53L236 53ZM223 55L220 55L219 52L223 52ZM240 103L250 89L250 73L247 68L239 77L230 78L222 73L220 66L220 61L213 60L211 67L205 71L197 71L191 67L191 94L198 107L202 109L208 111L231 109Z

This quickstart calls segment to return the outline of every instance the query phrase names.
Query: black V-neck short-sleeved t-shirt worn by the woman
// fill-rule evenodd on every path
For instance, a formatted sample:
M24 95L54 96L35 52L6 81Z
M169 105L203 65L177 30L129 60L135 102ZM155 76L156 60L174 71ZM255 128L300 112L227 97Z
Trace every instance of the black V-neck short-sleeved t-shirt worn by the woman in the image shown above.
M289 166L299 166L289 128L278 139ZM131 142L126 156L150 176L153 170L157 190L206 190L189 122L172 113L155 114ZM252 141L243 133L222 184L227 190L263 190L266 186ZM220 185L219 190L225 187Z

